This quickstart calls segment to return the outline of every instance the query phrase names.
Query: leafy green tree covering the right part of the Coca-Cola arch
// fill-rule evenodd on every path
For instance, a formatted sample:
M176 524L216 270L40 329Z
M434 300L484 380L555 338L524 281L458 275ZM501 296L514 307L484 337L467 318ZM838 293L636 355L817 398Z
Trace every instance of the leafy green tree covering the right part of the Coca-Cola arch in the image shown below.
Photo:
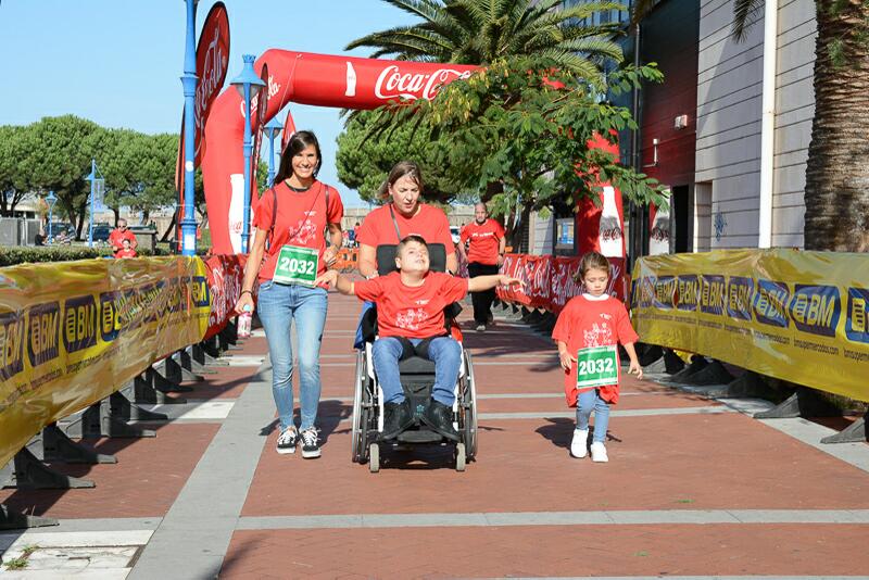
M626 68L610 75L609 90L618 94L662 78L654 65ZM595 136L635 128L630 111L601 101L596 90L549 59L496 61L452 83L433 101L393 104L377 114L389 119L376 121L380 127L419 121L436 139L428 154L450 168L458 187L484 197L500 186L492 197L496 214L527 219L556 201L574 206L607 181L634 202L664 203L656 180L589 147Z

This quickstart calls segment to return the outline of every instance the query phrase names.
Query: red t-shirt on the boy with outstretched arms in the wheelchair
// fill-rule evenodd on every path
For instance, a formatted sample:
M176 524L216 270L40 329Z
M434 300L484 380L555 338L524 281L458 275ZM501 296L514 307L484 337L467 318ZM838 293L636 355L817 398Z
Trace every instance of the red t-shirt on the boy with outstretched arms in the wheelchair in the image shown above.
M446 333L443 308L468 293L468 280L429 272L423 285L406 286L393 272L354 282L362 300L377 304L377 328L381 337L429 338Z

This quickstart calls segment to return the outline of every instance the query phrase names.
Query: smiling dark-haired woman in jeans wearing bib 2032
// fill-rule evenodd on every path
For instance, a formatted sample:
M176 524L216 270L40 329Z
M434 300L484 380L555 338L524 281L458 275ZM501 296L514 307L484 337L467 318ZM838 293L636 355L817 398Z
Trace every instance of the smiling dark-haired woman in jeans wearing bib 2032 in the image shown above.
M236 304L239 314L253 310L252 292L259 278L256 312L268 341L272 392L280 417L277 452L293 453L301 440L305 458L320 455L314 423L319 405L319 346L327 300L326 288L314 281L335 262L341 248L344 214L338 191L316 178L322 164L313 133L299 131L290 138L275 186L263 193L254 212L256 234ZM293 320L299 337L301 432L292 418Z

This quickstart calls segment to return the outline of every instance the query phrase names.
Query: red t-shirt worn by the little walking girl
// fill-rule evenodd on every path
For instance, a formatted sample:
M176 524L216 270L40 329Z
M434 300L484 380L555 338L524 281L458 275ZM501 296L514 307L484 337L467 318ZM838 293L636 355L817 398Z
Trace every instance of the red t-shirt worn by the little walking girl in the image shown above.
M604 300L574 297L558 315L552 330L552 338L567 344L567 352L576 356L580 349L589 346L612 346L618 343L637 342L640 338L631 326L628 311L618 299L605 297ZM577 395L594 387L577 389L577 365L565 371L564 392L567 404L576 406ZM601 399L618 403L618 384L599 387Z

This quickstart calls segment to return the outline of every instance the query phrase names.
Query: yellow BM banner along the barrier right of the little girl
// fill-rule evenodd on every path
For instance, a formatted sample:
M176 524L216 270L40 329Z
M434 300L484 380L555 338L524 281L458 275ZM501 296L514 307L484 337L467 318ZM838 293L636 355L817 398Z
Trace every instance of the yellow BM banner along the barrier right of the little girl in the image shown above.
M869 255L718 250L640 259L641 340L869 401Z

